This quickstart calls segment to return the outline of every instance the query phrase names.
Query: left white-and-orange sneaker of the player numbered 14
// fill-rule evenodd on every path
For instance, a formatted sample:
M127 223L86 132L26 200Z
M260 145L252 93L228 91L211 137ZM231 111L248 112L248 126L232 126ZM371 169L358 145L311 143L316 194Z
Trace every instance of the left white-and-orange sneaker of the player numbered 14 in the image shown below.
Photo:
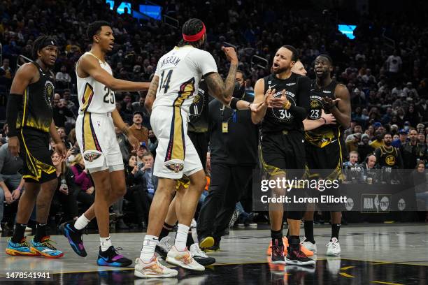
M134 275L140 278L166 278L176 277L178 271L167 268L157 261L156 256L153 256L149 263L144 263L141 258L135 260Z

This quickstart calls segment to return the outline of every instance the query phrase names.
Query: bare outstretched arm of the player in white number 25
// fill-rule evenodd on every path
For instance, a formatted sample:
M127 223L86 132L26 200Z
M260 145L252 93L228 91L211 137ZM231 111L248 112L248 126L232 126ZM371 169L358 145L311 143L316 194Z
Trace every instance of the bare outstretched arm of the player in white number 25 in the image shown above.
M78 61L78 75L81 78L92 76L113 91L147 90L150 85L148 82L132 82L113 78L113 75L101 68L98 59L90 54L83 55Z

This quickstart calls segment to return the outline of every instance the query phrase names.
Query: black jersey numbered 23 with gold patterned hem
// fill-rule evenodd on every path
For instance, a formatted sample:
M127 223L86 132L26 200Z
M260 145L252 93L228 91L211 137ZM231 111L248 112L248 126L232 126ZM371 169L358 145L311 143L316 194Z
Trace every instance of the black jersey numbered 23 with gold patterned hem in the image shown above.
M316 80L313 80L311 84L311 95L309 96L309 113L308 119L319 119L321 117L321 112L324 109L322 103L322 97L328 97L335 99L334 90L338 83L336 80L332 80L329 85L326 87L318 87ZM324 110L327 114L328 110ZM305 131L305 139L307 142L317 146L325 147L330 142L341 138L343 133L342 126L340 124L331 124L320 126L317 129L311 131Z

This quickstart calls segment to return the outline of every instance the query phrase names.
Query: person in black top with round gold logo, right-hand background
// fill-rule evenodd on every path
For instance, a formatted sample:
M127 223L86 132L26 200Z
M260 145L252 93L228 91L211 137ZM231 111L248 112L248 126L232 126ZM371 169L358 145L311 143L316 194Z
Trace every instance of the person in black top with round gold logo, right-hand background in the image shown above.
M376 159L380 168L403 169L403 159L397 147L392 146L392 136L385 133L383 136L385 145L381 145L375 150Z

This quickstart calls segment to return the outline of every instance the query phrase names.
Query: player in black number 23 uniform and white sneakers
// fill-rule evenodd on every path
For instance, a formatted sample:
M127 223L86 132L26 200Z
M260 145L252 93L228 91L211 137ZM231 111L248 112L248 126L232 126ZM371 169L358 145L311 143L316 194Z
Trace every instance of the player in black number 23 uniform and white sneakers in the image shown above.
M345 152L343 131L350 124L350 95L345 85L331 79L333 62L328 55L321 54L315 59L316 80L311 85L310 110L308 120L320 118L322 111L331 113L336 124L325 124L311 131L306 131L306 163L311 175L325 180L342 179L342 158ZM316 172L316 173L315 173ZM315 177L314 176L314 177ZM341 212L331 212L331 239L327 244L327 256L339 256L341 247L338 233L341 226ZM306 240L304 247L316 253L313 238L313 205L308 205L304 215Z

